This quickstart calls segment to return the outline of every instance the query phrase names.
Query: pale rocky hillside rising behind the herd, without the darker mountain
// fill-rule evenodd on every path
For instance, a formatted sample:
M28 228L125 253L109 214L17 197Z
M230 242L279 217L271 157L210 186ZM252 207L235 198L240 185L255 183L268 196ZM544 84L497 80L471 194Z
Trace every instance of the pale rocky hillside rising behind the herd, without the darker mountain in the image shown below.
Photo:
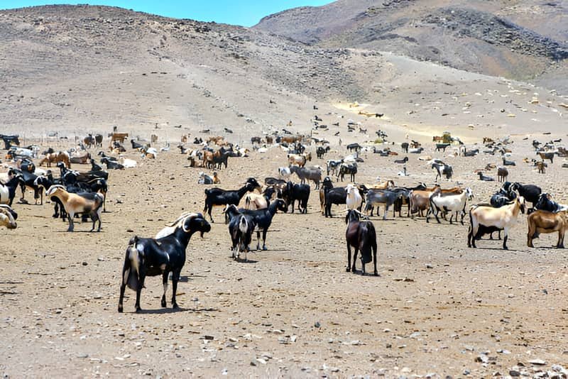
M378 127L398 136L452 128L496 135L562 125L558 104L568 102L559 87L102 6L0 11L0 38L0 125L28 136L83 136L116 125L164 141L227 127L245 141L288 121L309 133L315 113L329 125L315 133L339 131L344 141L361 138L346 132L347 119L371 126L368 139ZM363 105L349 108L354 101ZM385 116L366 119L361 109Z

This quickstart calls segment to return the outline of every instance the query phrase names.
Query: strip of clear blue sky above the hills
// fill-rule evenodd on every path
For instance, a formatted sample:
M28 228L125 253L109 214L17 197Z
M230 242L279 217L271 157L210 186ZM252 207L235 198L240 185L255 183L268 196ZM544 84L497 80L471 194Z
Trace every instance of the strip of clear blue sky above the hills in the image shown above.
M120 6L160 16L192 18L241 26L253 26L271 13L296 6L320 6L330 0L0 0L0 9L21 8L45 4L92 4Z

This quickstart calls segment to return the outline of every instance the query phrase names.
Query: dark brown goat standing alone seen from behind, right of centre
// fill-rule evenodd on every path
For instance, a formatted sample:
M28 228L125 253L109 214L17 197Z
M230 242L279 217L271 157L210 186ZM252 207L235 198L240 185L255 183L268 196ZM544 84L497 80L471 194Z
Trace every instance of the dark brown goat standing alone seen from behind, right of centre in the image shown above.
M365 265L373 260L374 273L378 276L377 271L377 235L375 226L371 221L361 221L359 212L354 209L347 211L345 215L345 224L347 229L345 231L345 240L347 244L347 268L349 273L356 273L355 266L357 260L357 253L361 251L361 265L362 273L365 275ZM353 265L351 265L351 247L354 248ZM371 250L373 256L371 256Z

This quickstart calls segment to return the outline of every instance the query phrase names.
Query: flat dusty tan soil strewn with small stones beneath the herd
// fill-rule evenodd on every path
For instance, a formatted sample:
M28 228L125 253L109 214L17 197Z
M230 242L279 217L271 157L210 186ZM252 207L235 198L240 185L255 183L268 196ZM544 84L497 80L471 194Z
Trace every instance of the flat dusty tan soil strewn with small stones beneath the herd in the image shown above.
M515 138L518 166L510 180L538 183L565 201L561 159L537 174L521 162L534 154L529 141ZM425 154L441 157L431 145ZM339 149L326 158L343 155ZM249 263L231 260L227 227L221 209L214 209L212 231L194 236L187 248L181 309L173 311L169 300L161 308L160 280L149 278L143 312L131 313L134 297L127 290L126 312L119 314L129 238L154 236L180 213L201 211L205 187L196 184L200 169L186 167L185 156L173 150L157 160L127 156L140 164L111 172L101 233L89 233L90 224L65 232L67 224L51 218L49 202L15 205L18 229L0 231L1 373L297 378L469 371L479 377L508 375L518 363L532 375L532 359L546 361L544 369L567 366L568 271L564 251L550 247L555 235L542 235L537 248L527 248L522 216L509 251L501 250L501 241L480 241L473 250L466 247L467 220L465 226L426 224L389 213L386 221L373 217L381 276L354 275L345 271L342 208L325 219L313 186L308 214L277 214L269 250L250 253ZM411 176L401 178L393 158L368 154L357 181L381 176L397 185L431 183L434 172L416 158L410 155ZM474 202L488 201L498 188L472 172L496 158L447 160L456 172L447 186L471 187ZM280 148L231 159L229 170L219 172L221 187L275 176L280 165ZM483 352L488 363L476 362Z

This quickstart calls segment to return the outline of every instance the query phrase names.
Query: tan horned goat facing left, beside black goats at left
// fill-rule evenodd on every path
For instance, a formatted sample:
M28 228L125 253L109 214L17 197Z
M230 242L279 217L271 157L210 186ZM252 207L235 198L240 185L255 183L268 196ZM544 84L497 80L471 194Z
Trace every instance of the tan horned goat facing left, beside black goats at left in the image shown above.
M97 231L101 231L101 212L102 203L104 201L102 194L96 193L93 199L87 199L79 194L67 192L62 185L53 185L48 189L48 192L45 193L45 196L57 197L60 200L65 208L65 212L67 212L67 219L69 220L69 229L67 229L67 231L73 231L73 218L75 214L89 214L93 221L91 231L94 231L96 221L99 221Z

